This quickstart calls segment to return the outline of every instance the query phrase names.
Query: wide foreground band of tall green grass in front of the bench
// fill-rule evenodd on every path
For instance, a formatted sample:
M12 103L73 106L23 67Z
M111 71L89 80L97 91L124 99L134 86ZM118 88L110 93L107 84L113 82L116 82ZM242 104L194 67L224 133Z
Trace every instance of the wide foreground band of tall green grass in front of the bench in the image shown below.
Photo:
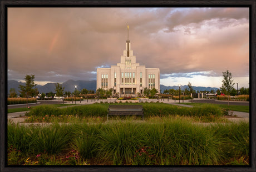
M8 123L8 148L34 157L39 153L65 155L72 149L80 154L80 162L86 159L95 165L246 164L248 122L205 127L187 118L42 126Z

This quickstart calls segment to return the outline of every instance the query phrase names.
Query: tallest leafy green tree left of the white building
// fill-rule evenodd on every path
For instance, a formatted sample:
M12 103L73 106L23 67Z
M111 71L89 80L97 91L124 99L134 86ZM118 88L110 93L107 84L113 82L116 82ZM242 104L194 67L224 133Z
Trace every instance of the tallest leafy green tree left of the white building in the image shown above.
M33 94L35 94L35 89L33 87L35 86L35 75L26 75L24 80L26 81L25 85L19 85L19 92L21 93L22 97L27 98L27 107L28 107L28 97L32 97Z

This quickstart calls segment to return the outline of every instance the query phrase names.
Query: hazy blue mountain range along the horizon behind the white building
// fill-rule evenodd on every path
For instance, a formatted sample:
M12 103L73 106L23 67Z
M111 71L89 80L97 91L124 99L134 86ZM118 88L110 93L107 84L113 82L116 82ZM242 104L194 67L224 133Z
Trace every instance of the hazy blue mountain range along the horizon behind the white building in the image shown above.
M19 93L19 85L25 85L25 83L17 82L16 80L8 80L8 93L11 88L14 88L16 90L16 93ZM77 85L77 89L81 90L83 88L86 88L87 90L94 90L96 92L96 80L67 80L62 84L62 87L64 87L64 91L70 91L73 92L75 90L75 85ZM184 90L185 88L188 88L188 85L181 85L180 89ZM53 92L55 93L55 83L47 83L45 85L37 85L37 89L40 93L49 93ZM179 89L179 86L165 86L160 85L161 92L163 93L166 89ZM193 86L194 90L201 90L201 91L208 91L211 90L217 90L218 88L215 87L195 87Z

